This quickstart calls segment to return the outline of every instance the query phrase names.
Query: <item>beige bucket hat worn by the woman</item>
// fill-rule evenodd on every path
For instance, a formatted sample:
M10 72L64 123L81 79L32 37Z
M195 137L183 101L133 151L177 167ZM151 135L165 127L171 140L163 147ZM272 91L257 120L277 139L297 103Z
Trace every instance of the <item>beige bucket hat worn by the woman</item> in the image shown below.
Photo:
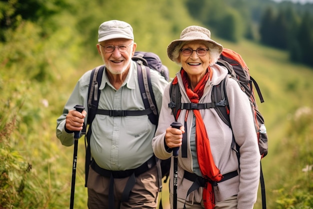
M173 51L175 48L180 45L181 42L188 42L188 41L205 41L208 42L209 50L216 51L216 53L221 54L223 47L222 45L218 44L217 42L211 40L211 32L206 28L200 26L189 26L185 28L180 33L180 39L174 40L170 42L167 46L167 56L171 61L176 62L176 58L173 56Z

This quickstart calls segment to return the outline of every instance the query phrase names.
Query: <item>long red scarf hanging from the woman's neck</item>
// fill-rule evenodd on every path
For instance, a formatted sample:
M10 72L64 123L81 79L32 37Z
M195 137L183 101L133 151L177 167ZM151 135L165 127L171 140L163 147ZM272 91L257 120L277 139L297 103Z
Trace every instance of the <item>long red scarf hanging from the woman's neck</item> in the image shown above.
M198 103L199 99L203 95L204 86L208 79L212 77L212 70L208 67L207 72L203 76L203 78L198 82L195 86L194 90L190 88L187 73L181 68L180 75L183 81L183 85L185 87L185 91L189 100L192 103ZM173 82L177 83L177 78ZM178 113L179 114L179 113ZM177 114L177 115L178 115ZM216 167L213 156L211 153L211 148L209 144L209 139L206 133L205 125L202 120L202 116L199 110L193 110L193 114L195 116L195 143L196 143L196 153L197 160L199 163L199 168L203 178L211 180L211 181L220 181L222 179L222 175L220 174L219 169ZM203 203L205 209L213 209L214 208L214 192L212 185L210 183L206 183L206 186L203 188Z

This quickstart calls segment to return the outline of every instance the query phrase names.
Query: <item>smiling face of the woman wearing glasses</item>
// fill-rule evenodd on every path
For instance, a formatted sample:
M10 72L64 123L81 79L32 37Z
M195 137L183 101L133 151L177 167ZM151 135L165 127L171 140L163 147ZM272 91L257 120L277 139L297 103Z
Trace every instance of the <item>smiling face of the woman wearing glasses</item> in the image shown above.
M186 49L186 48L189 48L191 50L198 50L198 49L207 50L207 47L204 45L204 43L200 41L189 42L183 45L181 49ZM179 59L180 59L181 67L188 74L188 76L202 77L205 74L206 69L209 65L209 52L207 51L204 56L197 55L195 51L192 51L192 54L189 56L185 56L180 52Z

